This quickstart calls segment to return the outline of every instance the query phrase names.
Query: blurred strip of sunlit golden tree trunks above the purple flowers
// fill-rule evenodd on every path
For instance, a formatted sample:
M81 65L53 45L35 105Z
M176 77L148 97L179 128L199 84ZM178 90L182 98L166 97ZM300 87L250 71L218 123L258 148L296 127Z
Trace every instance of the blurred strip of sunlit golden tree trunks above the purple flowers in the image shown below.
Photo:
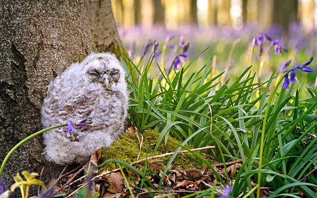
M232 26L257 24L261 29L280 26L284 31L293 22L306 31L317 27L317 0L112 0L117 24L124 27L167 29L191 24Z

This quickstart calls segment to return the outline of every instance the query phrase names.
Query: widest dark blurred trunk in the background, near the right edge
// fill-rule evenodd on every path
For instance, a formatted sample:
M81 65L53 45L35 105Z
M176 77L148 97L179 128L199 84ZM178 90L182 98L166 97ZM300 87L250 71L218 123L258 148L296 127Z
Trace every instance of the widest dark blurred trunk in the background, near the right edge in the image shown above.
M273 24L288 32L288 26L297 21L298 0L274 0Z

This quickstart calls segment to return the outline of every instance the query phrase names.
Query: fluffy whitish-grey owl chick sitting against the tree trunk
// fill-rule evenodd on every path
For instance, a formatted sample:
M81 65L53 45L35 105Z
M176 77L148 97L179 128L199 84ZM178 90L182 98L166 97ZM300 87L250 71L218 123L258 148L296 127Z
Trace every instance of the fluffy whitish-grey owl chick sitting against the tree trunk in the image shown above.
M91 118L94 126L59 127L43 134L49 161L82 163L123 133L128 108L125 72L110 53L88 55L50 82L41 108L44 127Z

